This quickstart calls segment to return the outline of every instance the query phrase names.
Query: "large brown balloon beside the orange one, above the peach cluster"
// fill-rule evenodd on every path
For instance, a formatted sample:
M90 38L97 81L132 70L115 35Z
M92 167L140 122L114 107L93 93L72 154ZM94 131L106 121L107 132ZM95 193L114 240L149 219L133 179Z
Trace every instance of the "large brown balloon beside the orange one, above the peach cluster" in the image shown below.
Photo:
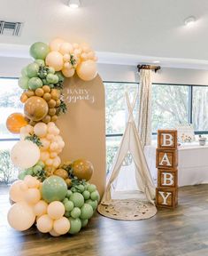
M25 103L24 113L32 121L42 120L47 116L48 111L49 106L41 97L32 96Z

